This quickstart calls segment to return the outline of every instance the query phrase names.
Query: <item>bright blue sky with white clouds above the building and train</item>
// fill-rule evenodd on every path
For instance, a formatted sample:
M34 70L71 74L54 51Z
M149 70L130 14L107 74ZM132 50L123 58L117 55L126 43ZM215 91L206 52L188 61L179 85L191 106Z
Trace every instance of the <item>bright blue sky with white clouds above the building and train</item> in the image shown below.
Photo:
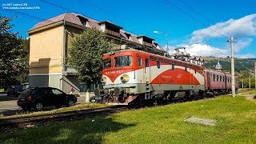
M163 47L166 47L166 35L154 34L153 31L166 32L169 34L170 53L174 47L185 46L187 52L192 55L230 56L230 43L226 41L230 35L234 35L235 57L256 58L256 1L254 0L43 1L99 21L109 20L131 33L145 34L154 38ZM0 4L2 7L10 3L38 6L40 9L15 11L42 19L69 12L43 1L1 0ZM18 32L23 38L28 37L27 30L42 21L4 11L2 7L0 10L2 16L17 16L12 22L13 31Z

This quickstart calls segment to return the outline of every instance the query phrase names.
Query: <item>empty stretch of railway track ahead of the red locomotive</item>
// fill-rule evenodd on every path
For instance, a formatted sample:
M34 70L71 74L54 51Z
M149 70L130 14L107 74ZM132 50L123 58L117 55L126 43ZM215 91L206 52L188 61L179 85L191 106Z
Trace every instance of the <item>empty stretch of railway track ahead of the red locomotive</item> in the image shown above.
M61 114L47 114L42 116L0 119L0 131L17 130L27 127L45 126L52 122L65 122L68 120L79 120L84 118L94 118L105 116L128 110L127 107L110 106L90 110L70 111Z

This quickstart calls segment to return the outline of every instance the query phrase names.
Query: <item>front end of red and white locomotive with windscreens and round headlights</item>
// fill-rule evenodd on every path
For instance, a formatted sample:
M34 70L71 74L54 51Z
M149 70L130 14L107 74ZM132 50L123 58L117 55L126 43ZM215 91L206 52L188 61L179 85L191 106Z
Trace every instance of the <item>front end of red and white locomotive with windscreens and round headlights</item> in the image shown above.
M103 59L102 90L95 90L96 102L128 105L136 98L138 86L134 67L134 53L120 51L106 54Z

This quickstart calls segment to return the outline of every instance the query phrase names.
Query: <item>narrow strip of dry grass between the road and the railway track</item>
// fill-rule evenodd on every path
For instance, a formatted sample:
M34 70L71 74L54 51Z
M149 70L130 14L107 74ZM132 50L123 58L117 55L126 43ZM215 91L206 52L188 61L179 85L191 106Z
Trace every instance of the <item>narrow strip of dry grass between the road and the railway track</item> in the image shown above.
M106 106L108 106L108 105L98 104L98 103L82 103L79 105L70 106L70 107L62 107L60 109L50 110L50 111L24 112L22 114L15 114L15 115L6 116L6 117L0 115L0 120L7 119L7 118L22 118L22 117L28 117L28 116L59 114L59 113L64 113L64 112L68 112L68 111L94 109L94 108L100 108L100 107L106 107Z

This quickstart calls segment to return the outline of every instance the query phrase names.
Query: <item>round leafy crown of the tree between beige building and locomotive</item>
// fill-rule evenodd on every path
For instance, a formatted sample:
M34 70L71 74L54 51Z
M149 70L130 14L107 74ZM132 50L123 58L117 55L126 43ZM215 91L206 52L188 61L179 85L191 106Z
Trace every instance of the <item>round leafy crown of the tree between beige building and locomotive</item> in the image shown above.
M90 86L102 77L102 56L110 52L113 42L108 41L106 34L94 29L86 29L71 42L68 64L77 73L80 82Z

